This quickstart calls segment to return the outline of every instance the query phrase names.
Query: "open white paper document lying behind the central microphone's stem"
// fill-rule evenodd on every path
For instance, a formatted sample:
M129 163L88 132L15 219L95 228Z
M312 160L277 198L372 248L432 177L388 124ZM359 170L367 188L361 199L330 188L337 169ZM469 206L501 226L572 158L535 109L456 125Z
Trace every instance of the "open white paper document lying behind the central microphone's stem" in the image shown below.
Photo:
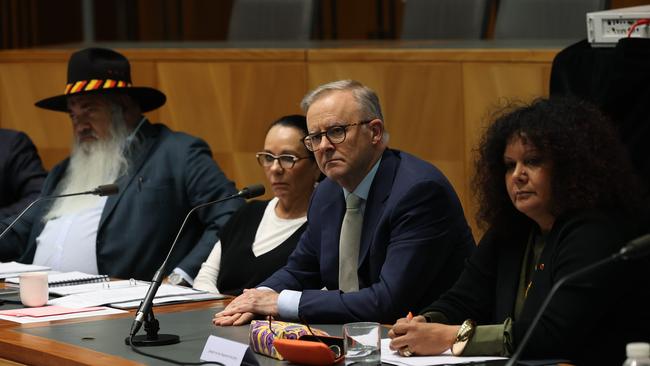
M141 283L138 281L138 283ZM91 292L76 293L73 295L59 297L47 302L48 305L60 305L69 308L85 308L117 302L135 301L144 299L149 286L129 286L123 288L102 288ZM192 295L203 293L189 287L173 286L166 283L160 285L156 298L178 295Z

